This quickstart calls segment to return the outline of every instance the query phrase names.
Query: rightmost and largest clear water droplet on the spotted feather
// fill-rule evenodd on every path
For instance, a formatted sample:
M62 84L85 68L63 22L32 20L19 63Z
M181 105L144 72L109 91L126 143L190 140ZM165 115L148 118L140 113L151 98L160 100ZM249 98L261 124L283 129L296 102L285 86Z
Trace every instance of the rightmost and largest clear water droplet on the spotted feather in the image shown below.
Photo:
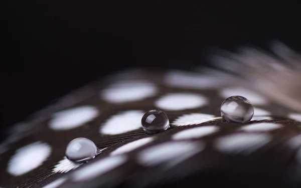
M245 123L252 119L253 114L253 105L242 96L229 97L221 106L221 115L228 122Z

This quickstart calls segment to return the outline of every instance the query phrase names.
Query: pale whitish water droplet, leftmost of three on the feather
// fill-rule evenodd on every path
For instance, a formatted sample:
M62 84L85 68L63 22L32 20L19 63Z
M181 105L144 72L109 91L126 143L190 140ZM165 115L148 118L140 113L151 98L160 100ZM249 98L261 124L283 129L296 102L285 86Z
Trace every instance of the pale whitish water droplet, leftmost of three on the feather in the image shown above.
M87 138L75 138L66 148L66 157L73 162L87 162L97 155L98 148Z

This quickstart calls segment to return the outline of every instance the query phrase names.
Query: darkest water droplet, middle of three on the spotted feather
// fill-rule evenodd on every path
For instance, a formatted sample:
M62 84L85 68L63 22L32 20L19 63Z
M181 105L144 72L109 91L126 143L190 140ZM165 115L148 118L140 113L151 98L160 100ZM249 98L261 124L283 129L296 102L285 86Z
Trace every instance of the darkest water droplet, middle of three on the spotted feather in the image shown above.
M167 130L170 123L167 115L161 110L149 110L142 119L143 130L148 134L155 134Z

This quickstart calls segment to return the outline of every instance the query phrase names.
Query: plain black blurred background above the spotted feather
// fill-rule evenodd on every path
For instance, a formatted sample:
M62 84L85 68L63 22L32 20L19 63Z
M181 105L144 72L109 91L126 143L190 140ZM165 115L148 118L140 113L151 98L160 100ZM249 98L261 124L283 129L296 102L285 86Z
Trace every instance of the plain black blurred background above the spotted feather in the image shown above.
M207 63L210 46L264 48L279 39L299 50L299 11L287 1L12 0L3 17L0 126L112 71Z

